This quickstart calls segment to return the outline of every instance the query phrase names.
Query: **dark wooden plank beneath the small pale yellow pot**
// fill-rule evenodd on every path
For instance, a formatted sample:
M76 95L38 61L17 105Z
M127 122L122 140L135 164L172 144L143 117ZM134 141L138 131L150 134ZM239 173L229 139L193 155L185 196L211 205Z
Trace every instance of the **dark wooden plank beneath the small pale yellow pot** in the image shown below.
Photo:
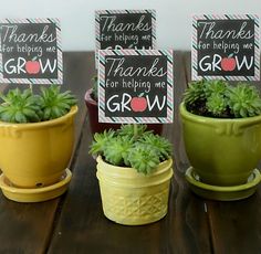
M169 212L159 222L123 226L103 215L96 162L88 155L91 131L87 123L74 167L74 177L54 230L49 253L211 253L202 200L188 190L184 171L188 167L180 136L177 106L185 82L182 54L175 53L175 124L164 135L175 145L175 179Z

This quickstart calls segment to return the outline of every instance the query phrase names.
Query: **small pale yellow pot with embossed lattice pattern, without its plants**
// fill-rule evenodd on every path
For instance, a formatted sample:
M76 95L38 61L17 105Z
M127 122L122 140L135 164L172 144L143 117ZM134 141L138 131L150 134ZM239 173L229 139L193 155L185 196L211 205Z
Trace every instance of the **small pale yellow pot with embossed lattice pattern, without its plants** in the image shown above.
M173 160L161 162L153 173L106 163L97 158L97 178L103 211L109 220L125 225L142 225L164 218L168 210Z

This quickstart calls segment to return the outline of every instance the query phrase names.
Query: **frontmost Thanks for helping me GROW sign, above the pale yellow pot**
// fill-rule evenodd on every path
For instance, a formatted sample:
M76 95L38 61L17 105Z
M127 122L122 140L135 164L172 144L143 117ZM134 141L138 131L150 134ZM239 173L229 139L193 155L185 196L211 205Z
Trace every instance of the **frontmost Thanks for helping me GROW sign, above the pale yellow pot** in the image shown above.
M173 123L173 51L100 50L100 123Z

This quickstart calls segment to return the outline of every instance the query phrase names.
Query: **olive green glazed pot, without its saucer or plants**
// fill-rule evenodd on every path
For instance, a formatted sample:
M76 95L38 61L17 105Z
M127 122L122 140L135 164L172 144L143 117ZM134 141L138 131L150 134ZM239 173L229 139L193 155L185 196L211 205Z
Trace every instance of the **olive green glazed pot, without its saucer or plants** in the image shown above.
M247 182L261 158L261 116L218 119L179 107L188 159L200 181L212 186Z

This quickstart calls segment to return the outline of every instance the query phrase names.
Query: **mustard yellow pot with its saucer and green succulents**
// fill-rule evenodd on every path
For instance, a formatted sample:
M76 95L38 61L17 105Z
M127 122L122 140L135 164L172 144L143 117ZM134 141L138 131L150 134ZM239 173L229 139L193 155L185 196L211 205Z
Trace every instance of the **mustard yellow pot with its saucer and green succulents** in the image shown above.
M60 86L10 89L0 95L0 187L19 202L62 194L71 179L66 169L74 141L76 99Z

